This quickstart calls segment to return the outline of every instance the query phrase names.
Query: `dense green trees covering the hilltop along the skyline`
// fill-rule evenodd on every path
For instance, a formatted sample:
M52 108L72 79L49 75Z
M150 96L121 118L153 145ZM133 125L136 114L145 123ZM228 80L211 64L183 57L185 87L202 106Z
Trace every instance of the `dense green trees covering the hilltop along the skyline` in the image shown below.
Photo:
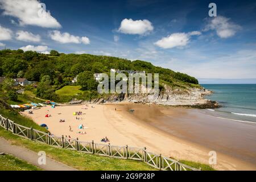
M130 61L119 57L64 54L51 51L50 55L43 55L34 51L18 50L0 51L0 76L16 78L24 77L29 81L40 81L48 75L52 85L70 82L81 72L109 73L110 69L146 71L159 73L160 79L172 82L174 79L190 84L198 84L195 77L170 69L155 67L151 63L141 60Z

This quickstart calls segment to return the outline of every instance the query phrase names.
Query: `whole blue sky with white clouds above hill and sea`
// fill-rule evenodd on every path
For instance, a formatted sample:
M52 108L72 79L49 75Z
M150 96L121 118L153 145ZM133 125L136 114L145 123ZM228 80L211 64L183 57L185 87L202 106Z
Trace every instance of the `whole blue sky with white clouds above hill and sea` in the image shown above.
M0 0L0 49L144 60L204 83L255 81L255 17L256 1Z

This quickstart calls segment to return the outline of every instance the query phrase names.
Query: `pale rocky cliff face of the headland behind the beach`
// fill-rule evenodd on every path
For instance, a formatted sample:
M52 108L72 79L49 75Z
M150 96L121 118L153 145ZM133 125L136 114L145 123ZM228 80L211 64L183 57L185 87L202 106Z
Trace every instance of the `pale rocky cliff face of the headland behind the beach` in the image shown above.
M112 94L107 98L100 98L93 103L133 102L142 104L158 104L169 106L188 106L196 108L216 108L219 105L215 101L204 98L211 94L204 88L172 89L164 85L164 91L159 94Z

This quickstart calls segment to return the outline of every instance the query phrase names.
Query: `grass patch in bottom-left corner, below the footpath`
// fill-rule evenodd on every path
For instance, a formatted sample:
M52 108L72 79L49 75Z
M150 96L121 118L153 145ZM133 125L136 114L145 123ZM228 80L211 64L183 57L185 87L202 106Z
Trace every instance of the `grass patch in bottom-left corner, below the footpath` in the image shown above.
M40 171L36 166L13 155L0 155L0 171Z

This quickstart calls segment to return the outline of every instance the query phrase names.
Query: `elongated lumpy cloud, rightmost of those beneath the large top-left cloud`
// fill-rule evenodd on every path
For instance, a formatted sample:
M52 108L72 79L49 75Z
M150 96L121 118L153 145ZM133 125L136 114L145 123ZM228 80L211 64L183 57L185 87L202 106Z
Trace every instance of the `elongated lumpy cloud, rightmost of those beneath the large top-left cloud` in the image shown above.
M79 37L75 35L71 35L68 32L64 32L61 34L59 30L54 30L49 32L49 36L51 37L52 40L55 40L59 43L67 44L67 43L75 43L75 44L89 44L90 40L86 38L86 36Z

